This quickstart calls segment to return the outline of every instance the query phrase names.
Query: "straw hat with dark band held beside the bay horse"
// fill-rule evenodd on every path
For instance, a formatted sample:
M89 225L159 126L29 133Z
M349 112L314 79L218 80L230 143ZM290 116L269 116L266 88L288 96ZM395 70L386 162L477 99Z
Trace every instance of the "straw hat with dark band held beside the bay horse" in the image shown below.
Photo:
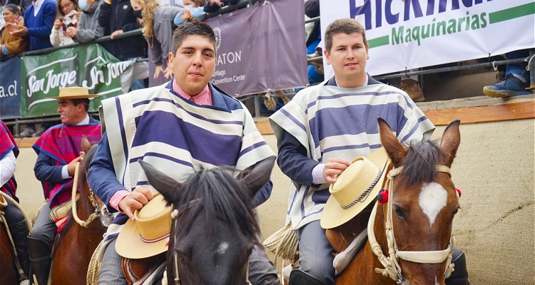
M376 201L388 164L384 147L355 158L329 187L331 196L322 212L322 228L338 227Z

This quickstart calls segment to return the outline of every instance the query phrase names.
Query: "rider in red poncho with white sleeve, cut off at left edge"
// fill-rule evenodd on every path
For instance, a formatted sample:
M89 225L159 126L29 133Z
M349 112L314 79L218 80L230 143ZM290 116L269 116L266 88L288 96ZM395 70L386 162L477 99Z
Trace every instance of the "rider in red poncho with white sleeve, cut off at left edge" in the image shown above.
M13 198L16 202L19 202L19 199L15 196L16 181L14 173L18 155L19 147L16 147L13 135L9 132L6 124L0 120L0 191ZM16 253L19 255L21 268L24 271L24 275L28 276L29 257L28 244L26 242L29 231L28 224L26 224L26 219L21 209L9 199L6 199L6 202L7 207L2 210L5 213L9 230L15 243Z

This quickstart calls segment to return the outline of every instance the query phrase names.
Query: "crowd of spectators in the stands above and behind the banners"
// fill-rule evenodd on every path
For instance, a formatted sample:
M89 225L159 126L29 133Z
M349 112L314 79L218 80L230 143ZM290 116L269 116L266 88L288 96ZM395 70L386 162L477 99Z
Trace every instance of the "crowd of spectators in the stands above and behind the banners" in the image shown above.
M178 0L173 1L175 6L164 7L158 0L0 0L0 60L24 51L88 43L110 36L112 40L101 43L103 47L120 61L136 61L133 69L138 69L138 72L134 71L134 74L141 74L131 78L126 91L146 88L148 63L138 60L148 57L148 48L156 66L153 78L162 75L166 80L172 78L173 70L167 63L173 30L191 19L202 21L206 14L239 1ZM305 0L305 16L320 16L319 0ZM320 21L310 26L306 39L307 58L317 58L322 56ZM142 36L120 36L138 28L142 28ZM524 53L513 52L509 57L525 56ZM484 94L506 97L530 93L524 89L529 84L529 73L519 66L510 65L507 73L502 67L499 81L494 86L484 86ZM310 85L325 80L321 62L309 63L307 73ZM415 102L425 100L417 76L402 78L400 87ZM282 107L288 100L284 99L264 95L263 113L269 114ZM41 124L39 130L34 124L29 124L21 136L39 136L53 124Z

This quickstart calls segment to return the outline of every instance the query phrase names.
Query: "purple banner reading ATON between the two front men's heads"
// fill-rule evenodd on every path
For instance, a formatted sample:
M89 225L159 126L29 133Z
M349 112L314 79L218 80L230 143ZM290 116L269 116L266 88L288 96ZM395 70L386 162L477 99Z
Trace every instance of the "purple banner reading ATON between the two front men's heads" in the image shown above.
M306 86L304 14L303 1L272 0L205 20L218 40L210 82L236 97Z

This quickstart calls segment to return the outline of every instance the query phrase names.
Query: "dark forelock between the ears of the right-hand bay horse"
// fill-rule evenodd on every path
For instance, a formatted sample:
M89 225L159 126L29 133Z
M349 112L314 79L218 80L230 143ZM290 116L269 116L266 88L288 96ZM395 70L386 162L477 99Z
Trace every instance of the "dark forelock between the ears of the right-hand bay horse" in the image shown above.
M399 180L409 187L432 182L437 173L435 165L442 164L445 159L446 155L436 141L412 143L402 163L403 170L399 174Z

